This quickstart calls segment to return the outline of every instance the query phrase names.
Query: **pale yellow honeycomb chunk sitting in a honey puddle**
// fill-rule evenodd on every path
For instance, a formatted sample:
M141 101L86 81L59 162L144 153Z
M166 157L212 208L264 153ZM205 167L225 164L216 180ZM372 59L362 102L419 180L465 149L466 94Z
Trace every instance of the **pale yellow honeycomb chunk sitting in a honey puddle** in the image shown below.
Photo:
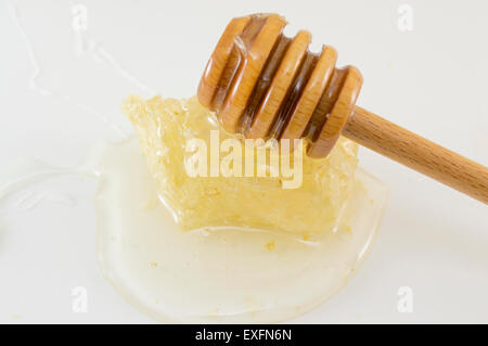
M290 154L293 167L297 157L301 159L301 179L297 188L285 189L290 176L282 171L271 175L269 159L278 155L275 148L267 151L266 167L254 162L255 171L262 168L266 177L188 174L185 164L194 155L189 151L189 140L202 139L210 148L210 131L219 130L220 143L235 138L220 129L215 115L195 97L144 100L131 95L124 102L123 111L137 130L159 197L181 230L239 227L308 236L333 230L351 193L358 146L345 138L325 158L310 158L305 149ZM254 153L257 151L253 149ZM220 158L226 155L220 153ZM242 164L246 164L245 159Z

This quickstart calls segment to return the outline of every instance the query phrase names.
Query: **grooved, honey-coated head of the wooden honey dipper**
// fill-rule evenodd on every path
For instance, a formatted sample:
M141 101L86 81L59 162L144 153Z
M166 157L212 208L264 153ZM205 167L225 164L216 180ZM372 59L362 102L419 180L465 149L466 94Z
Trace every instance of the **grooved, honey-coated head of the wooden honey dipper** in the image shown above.
M308 155L325 157L341 136L362 85L354 66L336 68L336 51L311 53L311 36L283 35L278 14L233 18L198 86L200 102L222 127L246 138L309 140Z

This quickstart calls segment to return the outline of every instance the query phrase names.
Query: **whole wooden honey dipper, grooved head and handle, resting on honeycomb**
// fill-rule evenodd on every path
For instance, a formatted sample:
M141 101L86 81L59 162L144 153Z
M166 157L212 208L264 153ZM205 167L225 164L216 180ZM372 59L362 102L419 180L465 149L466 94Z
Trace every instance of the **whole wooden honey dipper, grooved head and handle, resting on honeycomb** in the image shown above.
M488 204L487 167L356 106L360 72L336 68L330 46L309 52L311 35L287 38L285 25L278 14L253 14L233 18L220 37L197 94L228 132L306 138L311 157L325 157L345 136Z

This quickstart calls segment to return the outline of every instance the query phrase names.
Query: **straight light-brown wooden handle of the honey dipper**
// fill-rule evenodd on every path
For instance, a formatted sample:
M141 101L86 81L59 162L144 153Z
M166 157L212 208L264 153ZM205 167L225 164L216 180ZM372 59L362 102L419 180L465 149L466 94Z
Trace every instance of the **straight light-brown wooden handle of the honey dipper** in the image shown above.
M488 168L356 107L343 136L488 204Z

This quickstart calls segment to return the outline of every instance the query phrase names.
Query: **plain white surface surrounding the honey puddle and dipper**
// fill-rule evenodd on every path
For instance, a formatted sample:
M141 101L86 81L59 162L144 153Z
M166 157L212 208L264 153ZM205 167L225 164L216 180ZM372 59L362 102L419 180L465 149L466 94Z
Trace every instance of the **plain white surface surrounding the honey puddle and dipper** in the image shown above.
M412 31L398 28L402 3ZM86 30L74 23L84 9ZM123 138L114 127L130 133L118 107L127 94L195 93L227 22L253 12L280 12L288 34L307 28L316 47L337 49L339 65L357 65L358 104L488 164L484 1L24 0L0 3L1 171L18 157L74 166L91 143ZM77 53L80 35L91 46ZM380 236L339 294L292 322L488 322L487 207L368 150L360 156L391 189ZM95 188L56 178L2 202L0 322L152 322L97 267ZM15 208L26 193L48 197ZM73 312L76 286L87 287L86 313ZM401 286L413 292L411 313L398 312Z

